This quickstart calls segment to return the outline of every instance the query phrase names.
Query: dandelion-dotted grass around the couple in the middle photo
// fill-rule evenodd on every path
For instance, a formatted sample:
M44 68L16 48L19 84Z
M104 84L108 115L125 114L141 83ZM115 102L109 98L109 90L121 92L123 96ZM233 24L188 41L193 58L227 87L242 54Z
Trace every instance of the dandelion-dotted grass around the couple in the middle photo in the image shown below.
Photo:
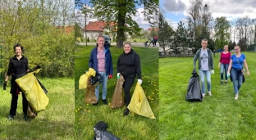
M97 106L85 103L85 90L78 89L80 75L89 69L89 55L93 47L79 46L75 49L75 139L92 139L94 125L103 120L107 123L107 131L121 140L158 139L158 48L133 47L140 56L142 69L142 88L153 110L156 120L130 113L123 116L125 106L112 110L103 105L102 93ZM107 101L111 102L117 82L117 58L122 48L111 47L114 74L107 81ZM135 82L137 79L135 79ZM134 92L135 84L130 93Z

